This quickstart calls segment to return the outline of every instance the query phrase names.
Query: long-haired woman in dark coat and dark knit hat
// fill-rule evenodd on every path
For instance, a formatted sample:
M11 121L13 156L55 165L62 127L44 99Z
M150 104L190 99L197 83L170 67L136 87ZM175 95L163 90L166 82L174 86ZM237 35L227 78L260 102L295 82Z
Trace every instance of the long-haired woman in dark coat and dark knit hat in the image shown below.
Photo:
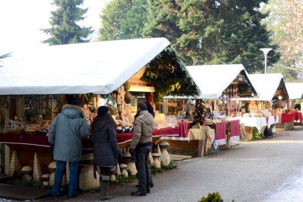
M116 138L117 125L109 114L109 108L98 108L98 116L91 123L91 141L94 143L93 163L100 167L101 200L109 196L110 170L118 164L116 154L123 158Z

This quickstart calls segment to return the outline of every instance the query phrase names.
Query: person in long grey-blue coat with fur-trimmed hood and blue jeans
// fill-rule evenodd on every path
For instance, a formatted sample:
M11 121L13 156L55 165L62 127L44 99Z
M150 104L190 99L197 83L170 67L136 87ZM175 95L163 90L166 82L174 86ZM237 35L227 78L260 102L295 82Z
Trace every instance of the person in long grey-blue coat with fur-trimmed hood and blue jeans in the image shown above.
M52 195L55 197L60 195L66 162L69 163L70 169L68 195L69 197L76 196L78 161L82 150L81 138L89 135L89 125L84 118L85 113L81 107L64 105L62 112L52 120L48 142L55 143L56 173L55 184L52 188Z

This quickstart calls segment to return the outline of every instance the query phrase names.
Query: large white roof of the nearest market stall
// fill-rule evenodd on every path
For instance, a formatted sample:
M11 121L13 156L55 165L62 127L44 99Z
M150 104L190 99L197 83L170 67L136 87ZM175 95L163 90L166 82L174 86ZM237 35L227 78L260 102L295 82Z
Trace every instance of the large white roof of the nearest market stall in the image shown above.
M147 38L16 51L0 68L0 94L108 94L169 44Z

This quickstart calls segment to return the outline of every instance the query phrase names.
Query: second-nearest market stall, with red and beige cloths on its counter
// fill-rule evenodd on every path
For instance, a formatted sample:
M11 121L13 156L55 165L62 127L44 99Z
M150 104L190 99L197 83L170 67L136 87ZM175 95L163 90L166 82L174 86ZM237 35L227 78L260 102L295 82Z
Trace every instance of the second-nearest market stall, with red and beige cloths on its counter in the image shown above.
M178 112L178 117L180 114L189 114L193 115L190 117L191 121L197 121L197 114L202 115L203 118L198 121L200 129L190 128L190 123L187 122L189 119L179 117L179 120L183 119L183 122L178 122L179 128L181 128L180 125L185 125L183 126L186 128L185 132L179 133L178 137L163 138L167 139L171 147L176 150L179 148L193 150L195 148L198 156L203 156L211 151L212 144L215 147L229 146L230 142L239 141L239 121L227 117L234 113L235 103L232 98L257 94L243 65L205 65L187 66L186 68L201 94L186 97L166 96L166 99L172 100L170 103L173 102L182 111L187 108L186 113ZM195 104L191 105L192 101ZM168 112L169 110L165 110L167 107L165 100L163 104L163 112Z

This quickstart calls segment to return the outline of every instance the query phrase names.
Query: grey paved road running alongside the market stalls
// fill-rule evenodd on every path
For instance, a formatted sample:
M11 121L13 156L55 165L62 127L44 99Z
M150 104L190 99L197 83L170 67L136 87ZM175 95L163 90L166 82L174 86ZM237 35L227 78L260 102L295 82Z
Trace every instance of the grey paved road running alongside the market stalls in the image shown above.
M224 201L275 201L271 198L283 183L302 175L302 159L303 127L297 127L272 139L241 142L218 154L183 161L178 169L154 176L155 187L147 196L130 195L136 183L111 189L114 199L109 201L198 201L214 191ZM97 201L98 197L99 193L89 193L61 200Z

